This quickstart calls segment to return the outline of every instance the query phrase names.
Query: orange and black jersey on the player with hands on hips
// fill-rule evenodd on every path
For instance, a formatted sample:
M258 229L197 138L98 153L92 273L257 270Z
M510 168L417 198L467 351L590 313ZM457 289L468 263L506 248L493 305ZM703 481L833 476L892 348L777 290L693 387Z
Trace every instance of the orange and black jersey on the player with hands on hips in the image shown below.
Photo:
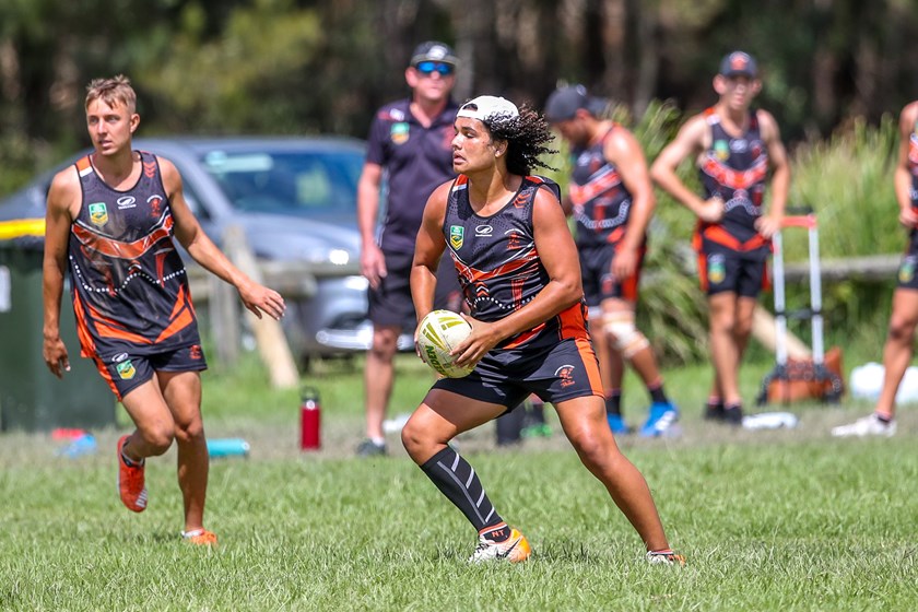
M762 141L758 118L750 113L749 128L734 138L727 133L714 108L705 110L711 130L711 146L702 156L699 173L705 199L723 200L719 225L740 242L756 235L762 199L768 176L768 149Z

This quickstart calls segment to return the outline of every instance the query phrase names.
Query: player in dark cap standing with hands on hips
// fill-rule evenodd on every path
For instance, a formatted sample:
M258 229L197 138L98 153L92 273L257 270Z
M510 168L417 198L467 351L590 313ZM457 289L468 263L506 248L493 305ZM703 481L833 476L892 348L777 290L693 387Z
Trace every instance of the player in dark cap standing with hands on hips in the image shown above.
M752 333L753 311L763 286L770 238L780 228L790 185L790 166L775 118L751 109L762 90L755 60L733 51L714 78L717 104L695 115L650 167L651 178L698 217L694 245L702 287L710 308L710 352L715 379L705 417L742 423L739 369ZM693 157L704 197L676 176ZM765 184L772 172L772 201L764 214Z

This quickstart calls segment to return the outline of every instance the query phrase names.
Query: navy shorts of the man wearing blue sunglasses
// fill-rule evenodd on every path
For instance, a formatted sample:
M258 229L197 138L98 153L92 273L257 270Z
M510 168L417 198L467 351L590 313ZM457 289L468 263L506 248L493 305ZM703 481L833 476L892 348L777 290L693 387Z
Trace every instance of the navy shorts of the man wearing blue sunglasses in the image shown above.
M411 264L414 254L387 252L386 278L379 286L369 290L369 320L377 326L396 326L414 329L417 316L411 299ZM458 313L462 308L462 290L459 274L452 264L452 258L444 254L437 270L437 287L434 295L434 308L446 308Z

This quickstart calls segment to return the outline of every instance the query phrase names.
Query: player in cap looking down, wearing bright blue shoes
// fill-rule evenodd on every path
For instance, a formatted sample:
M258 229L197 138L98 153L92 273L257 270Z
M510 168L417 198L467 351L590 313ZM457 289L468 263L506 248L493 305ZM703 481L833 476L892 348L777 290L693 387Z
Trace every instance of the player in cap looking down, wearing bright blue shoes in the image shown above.
M549 96L545 118L572 148L574 169L565 209L577 223L580 274L609 427L614 434L629 431L621 414L624 358L650 395L640 435L656 437L672 431L679 411L663 391L654 349L635 326L647 224L656 207L654 186L637 139L614 121L597 118L593 108L582 85L562 87Z

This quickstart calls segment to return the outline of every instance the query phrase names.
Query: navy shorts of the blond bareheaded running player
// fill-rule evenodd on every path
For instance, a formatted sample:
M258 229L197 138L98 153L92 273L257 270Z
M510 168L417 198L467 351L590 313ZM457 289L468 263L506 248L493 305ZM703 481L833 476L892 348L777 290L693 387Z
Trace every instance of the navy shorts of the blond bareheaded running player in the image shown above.
M208 368L200 344L160 353L149 351L150 348L144 346L136 352L129 349L128 352L93 356L99 374L118 401L153 378L155 372L201 372Z

